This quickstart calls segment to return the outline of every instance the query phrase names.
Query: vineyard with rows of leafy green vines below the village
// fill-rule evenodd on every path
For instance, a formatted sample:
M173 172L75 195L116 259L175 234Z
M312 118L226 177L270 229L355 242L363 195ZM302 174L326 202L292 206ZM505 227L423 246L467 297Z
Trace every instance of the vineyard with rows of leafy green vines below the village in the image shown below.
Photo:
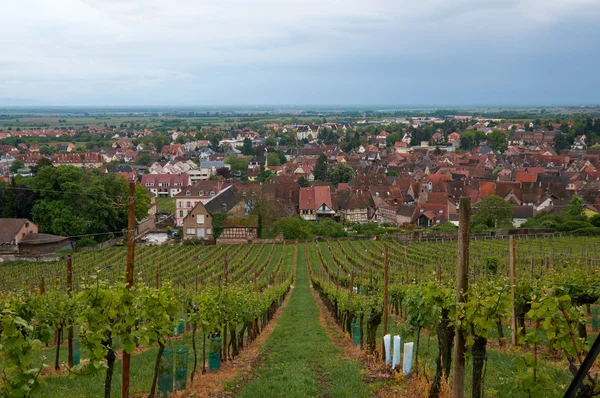
M272 319L301 267L338 327L380 361L387 264L385 332L415 343L414 374L424 380L417 395L451 388L460 332L469 396L559 397L598 333L599 243L568 236L473 240L466 302L458 304L453 240L138 247L131 289L125 248L74 253L71 285L66 257L4 263L2 393L64 395L77 380L96 377L105 396L115 394L109 376L119 350L139 352L134 364L148 356L147 376L132 382L132 392L159 389L161 358L184 345L193 346L193 366L180 379L202 377L206 350L224 361L237 356ZM44 375L44 356L56 368L67 362L60 336L70 330L81 345L81 363L69 368L75 378ZM592 368L580 396L593 396L598 384Z

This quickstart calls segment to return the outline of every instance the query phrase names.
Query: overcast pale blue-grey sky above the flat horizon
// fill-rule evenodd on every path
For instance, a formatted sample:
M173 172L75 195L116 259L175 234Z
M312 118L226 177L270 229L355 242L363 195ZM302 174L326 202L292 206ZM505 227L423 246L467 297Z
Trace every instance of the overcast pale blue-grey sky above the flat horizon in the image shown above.
M600 103L600 0L3 0L0 104Z

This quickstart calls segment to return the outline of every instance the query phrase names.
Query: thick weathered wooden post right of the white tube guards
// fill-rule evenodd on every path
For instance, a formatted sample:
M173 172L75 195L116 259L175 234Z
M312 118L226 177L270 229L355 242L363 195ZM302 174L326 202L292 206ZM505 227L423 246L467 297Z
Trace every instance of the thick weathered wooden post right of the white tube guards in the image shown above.
M456 269L456 303L464 303L469 280L469 224L471 222L471 198L460 198L458 221L458 259ZM457 321L458 321L457 315ZM457 328L454 337L454 365L452 397L463 398L465 395L465 336Z

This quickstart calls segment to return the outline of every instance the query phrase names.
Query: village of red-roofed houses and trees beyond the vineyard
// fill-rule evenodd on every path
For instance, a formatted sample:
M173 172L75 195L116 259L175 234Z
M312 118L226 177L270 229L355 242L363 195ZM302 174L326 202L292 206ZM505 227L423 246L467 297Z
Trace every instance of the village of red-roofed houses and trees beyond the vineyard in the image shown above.
M473 207L488 196L501 198L511 212L504 228L521 227L542 212L559 214L573 197L581 198L587 216L600 209L600 150L589 138L600 135L600 119L519 123L445 116L256 125L166 133L133 124L2 130L2 180L26 185L43 165L114 174L144 187L149 216L179 229L183 240L214 241L211 214L228 214L235 228L220 234L221 243L265 235L255 217L261 201L269 203L273 220L409 231L451 231L463 196ZM71 143L82 134L106 145ZM27 145L32 138L46 142ZM5 143L11 140L23 142Z

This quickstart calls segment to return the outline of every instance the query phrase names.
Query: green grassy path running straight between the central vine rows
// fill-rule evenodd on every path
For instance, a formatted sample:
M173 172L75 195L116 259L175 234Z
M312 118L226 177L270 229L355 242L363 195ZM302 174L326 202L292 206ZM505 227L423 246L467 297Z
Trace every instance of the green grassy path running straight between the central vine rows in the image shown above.
M262 349L253 381L238 397L361 397L367 395L362 365L340 358L342 350L319 323L309 290L304 247L298 248L296 287Z

